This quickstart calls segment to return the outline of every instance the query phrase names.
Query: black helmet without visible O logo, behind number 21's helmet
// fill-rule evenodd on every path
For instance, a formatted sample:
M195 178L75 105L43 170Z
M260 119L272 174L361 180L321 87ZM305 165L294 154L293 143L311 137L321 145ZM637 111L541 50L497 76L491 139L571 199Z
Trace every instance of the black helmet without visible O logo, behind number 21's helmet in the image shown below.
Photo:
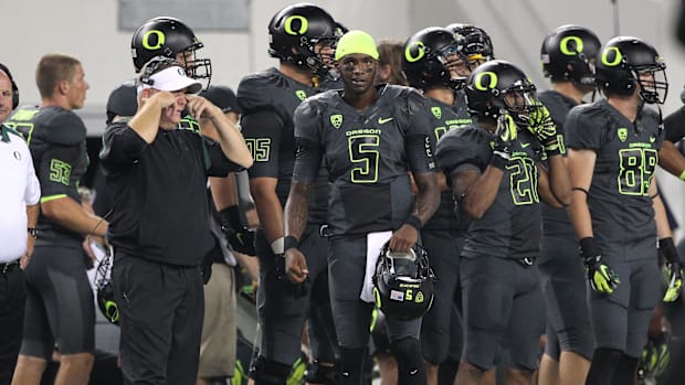
M463 23L453 23L446 26L454 33L462 60L470 71L478 64L495 58L493 41L485 30L479 26Z

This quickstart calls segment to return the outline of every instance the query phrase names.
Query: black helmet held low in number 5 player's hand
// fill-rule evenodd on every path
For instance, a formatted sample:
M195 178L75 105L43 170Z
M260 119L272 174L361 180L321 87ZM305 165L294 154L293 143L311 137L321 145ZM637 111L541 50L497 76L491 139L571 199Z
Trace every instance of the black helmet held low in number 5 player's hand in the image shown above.
M433 303L434 279L425 249L417 245L409 253L396 253L386 243L373 276L376 306L390 319L418 319Z

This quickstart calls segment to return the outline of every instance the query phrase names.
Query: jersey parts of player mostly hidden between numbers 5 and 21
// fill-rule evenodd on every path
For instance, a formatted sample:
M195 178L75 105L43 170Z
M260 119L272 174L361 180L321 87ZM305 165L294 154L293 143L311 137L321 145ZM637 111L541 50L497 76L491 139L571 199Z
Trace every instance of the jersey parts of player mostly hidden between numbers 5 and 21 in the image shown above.
M463 127L471 124L471 118L460 117L452 109L453 106L447 106L444 103L435 99L428 98L428 107L431 110L432 116L432 129L433 140L431 142L438 143L447 131ZM440 164L438 164L440 167ZM459 227L456 216L454 215L454 199L452 191L443 192L440 196L440 206L431 220L422 227L423 231L431 229L455 229Z

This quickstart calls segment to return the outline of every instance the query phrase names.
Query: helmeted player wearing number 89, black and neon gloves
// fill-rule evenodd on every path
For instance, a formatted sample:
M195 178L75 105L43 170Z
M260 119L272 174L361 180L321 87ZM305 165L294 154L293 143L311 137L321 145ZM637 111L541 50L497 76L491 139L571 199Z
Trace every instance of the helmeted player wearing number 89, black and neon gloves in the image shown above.
M645 41L619 36L596 57L607 99L577 106L565 129L571 221L592 291L596 349L587 384L632 384L658 297L657 250L670 264L664 300L679 295L681 263L656 188L665 64Z

